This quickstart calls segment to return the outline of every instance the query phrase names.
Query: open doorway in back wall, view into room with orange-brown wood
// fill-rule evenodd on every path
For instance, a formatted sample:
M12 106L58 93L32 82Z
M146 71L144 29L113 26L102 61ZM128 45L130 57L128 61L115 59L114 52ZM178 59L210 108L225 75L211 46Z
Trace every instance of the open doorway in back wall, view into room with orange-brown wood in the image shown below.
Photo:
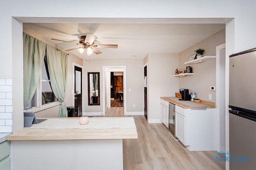
M123 72L110 72L110 107L124 107Z

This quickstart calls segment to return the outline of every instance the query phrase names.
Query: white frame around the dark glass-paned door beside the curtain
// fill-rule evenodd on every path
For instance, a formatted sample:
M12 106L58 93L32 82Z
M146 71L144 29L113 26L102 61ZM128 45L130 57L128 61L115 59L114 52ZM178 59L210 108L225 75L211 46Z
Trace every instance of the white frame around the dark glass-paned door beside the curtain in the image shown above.
M83 78L83 75L84 75L84 67L83 66L81 66L81 65L79 65L79 64L77 64L77 63L73 63L73 66L72 66L72 96L73 96L73 99L72 99L72 106L74 106L74 104L75 104L75 100L74 100L74 96L75 96L75 66L77 66L77 67L80 67L80 68L82 68L82 115L83 115L83 109L84 109L84 78Z

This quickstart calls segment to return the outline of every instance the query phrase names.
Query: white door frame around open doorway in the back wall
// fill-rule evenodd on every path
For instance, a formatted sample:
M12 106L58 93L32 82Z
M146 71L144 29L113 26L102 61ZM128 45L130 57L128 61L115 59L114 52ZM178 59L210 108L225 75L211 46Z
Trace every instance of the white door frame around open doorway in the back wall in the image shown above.
M110 72L123 72L124 115L126 115L126 66L102 66L102 115L110 107Z

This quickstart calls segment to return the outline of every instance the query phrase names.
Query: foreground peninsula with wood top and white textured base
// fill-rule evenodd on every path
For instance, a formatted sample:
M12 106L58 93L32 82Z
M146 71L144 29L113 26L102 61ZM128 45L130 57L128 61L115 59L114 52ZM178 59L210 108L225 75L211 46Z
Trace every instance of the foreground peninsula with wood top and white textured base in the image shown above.
M137 139L133 117L47 119L10 136L13 169L123 169L122 139Z

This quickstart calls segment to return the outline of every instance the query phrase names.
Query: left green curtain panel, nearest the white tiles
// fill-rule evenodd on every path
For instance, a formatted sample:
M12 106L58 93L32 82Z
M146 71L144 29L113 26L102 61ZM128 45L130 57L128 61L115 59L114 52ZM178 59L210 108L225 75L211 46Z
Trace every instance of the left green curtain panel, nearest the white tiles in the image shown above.
M23 33L23 105L24 108L33 98L41 74L46 43Z

